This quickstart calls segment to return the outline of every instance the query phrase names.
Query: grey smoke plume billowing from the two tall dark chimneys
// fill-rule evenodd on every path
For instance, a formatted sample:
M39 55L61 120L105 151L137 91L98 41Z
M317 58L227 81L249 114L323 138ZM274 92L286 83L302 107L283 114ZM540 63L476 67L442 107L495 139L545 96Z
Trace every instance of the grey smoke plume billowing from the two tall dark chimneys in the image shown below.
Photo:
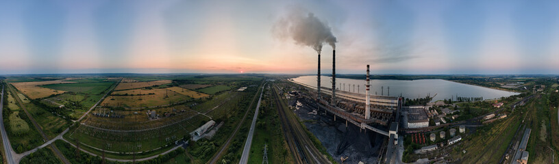
M332 34L332 29L312 12L291 10L286 17L277 20L272 31L278 38L292 38L296 44L310 46L319 54L324 43L336 49L337 41Z

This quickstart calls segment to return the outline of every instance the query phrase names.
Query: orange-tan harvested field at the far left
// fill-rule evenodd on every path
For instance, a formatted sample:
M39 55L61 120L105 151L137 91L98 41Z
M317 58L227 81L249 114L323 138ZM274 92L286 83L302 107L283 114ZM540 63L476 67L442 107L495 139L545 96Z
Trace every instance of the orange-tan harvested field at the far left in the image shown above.
M67 78L65 80L71 80L71 78ZM44 98L47 96L51 96L52 94L62 94L64 91L62 90L53 90L46 87L40 87L40 85L49 85L49 84L56 84L56 83L73 83L69 81L63 80L55 80L55 81L33 81L33 82L20 82L20 83L10 83L14 85L20 92L27 95L29 98Z

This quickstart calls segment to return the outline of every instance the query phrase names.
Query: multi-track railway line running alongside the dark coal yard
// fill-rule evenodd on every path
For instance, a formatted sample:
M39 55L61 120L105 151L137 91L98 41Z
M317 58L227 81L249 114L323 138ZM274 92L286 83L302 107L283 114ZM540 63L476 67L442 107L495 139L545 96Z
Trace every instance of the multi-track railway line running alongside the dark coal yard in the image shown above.
M295 157L296 163L330 163L328 159L314 146L295 115L288 113L278 96L277 87L273 87L275 104L282 121L282 128L288 146Z

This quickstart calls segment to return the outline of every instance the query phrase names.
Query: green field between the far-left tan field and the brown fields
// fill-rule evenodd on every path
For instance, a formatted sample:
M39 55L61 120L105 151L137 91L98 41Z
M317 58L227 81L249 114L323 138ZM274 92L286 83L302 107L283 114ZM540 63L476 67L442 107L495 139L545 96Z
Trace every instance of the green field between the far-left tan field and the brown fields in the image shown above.
M82 80L82 79L80 79ZM51 85L41 85L53 90L63 90L68 92L83 93L83 94L102 94L114 82L100 82L100 83L60 83Z

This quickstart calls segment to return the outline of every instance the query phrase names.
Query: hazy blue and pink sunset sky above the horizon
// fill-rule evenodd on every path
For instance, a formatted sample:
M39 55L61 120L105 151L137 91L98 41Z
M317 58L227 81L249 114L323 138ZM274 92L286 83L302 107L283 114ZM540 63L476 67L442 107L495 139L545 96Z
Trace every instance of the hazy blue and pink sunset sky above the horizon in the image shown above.
M559 1L0 0L0 74L316 73L274 27L294 9L336 38L336 73L558 74ZM305 15L306 16L306 15ZM332 47L321 50L323 74Z

